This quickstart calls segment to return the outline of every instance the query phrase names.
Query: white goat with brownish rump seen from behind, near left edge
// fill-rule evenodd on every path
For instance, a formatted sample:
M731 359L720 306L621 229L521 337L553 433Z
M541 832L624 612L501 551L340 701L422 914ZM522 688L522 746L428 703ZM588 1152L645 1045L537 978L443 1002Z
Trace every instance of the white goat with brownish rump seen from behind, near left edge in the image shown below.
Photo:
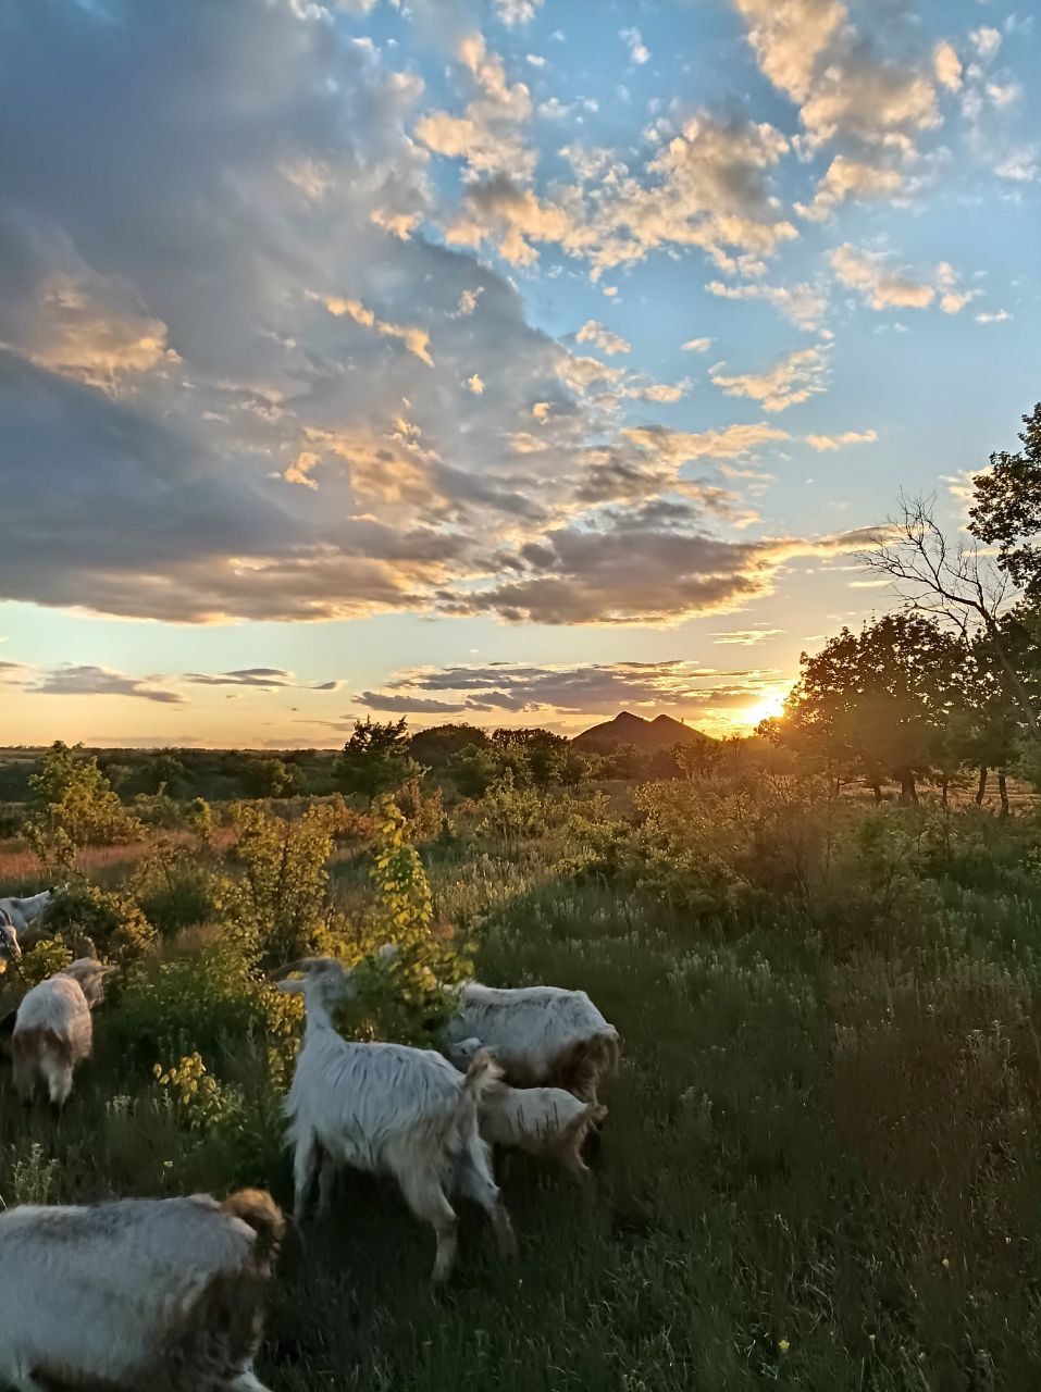
M14 1020L11 1057L14 1086L24 1102L36 1080L47 1084L50 1100L64 1107L72 1091L72 1072L93 1047L90 1011L102 998L113 966L81 958L25 994Z

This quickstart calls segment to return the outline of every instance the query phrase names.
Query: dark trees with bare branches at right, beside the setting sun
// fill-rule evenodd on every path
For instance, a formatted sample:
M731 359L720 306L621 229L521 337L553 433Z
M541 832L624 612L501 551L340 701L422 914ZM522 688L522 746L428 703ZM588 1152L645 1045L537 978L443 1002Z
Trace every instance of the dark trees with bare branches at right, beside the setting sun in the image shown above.
M971 482L966 530L951 540L931 500L902 500L861 560L902 607L843 628L803 653L781 717L760 734L842 781L917 802L921 780L946 798L973 768L983 802L991 771L1041 778L1041 404L1022 448L991 455Z

